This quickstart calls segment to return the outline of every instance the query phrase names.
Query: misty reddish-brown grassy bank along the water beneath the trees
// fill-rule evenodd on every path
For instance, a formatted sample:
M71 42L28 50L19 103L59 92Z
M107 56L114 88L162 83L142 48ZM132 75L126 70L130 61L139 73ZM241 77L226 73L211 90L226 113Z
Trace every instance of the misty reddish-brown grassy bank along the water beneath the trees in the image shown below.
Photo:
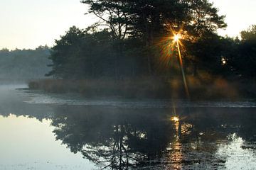
M255 83L232 82L220 77L187 77L191 100L237 100L254 97ZM86 97L118 96L122 98L188 98L183 81L178 78L111 79L41 79L30 81L29 89L48 93L79 93Z

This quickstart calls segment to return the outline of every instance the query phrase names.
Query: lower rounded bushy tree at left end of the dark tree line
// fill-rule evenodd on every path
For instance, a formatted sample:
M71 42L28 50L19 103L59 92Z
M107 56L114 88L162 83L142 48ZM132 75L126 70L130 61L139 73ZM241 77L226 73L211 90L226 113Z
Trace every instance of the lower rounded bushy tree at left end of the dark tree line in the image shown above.
M55 40L50 56L53 69L46 75L63 79L114 77L116 55L107 30L94 32L92 28L72 27Z

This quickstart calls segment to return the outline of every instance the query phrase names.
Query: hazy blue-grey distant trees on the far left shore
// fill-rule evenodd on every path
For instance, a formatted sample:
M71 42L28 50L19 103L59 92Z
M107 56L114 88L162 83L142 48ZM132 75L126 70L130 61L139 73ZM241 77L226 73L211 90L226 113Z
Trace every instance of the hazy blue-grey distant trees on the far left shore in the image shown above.
M36 50L0 50L0 79L38 79L50 71L46 65L50 48L37 47Z

